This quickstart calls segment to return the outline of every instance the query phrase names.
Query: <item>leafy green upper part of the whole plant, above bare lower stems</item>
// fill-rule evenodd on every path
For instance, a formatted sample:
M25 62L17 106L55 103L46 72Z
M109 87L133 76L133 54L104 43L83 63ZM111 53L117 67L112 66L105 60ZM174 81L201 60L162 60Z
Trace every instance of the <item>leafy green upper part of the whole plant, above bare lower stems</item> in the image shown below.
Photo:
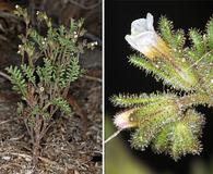
M57 110L71 114L66 100L71 83L82 74L79 57L86 46L79 41L84 34L83 20L71 20L69 28L54 27L46 13L37 12L37 22L46 26L45 34L31 25L25 9L16 7L14 12L26 25L25 34L20 36L22 44L17 53L21 66L7 67L13 89L22 96L19 113L33 125L36 115L49 120Z

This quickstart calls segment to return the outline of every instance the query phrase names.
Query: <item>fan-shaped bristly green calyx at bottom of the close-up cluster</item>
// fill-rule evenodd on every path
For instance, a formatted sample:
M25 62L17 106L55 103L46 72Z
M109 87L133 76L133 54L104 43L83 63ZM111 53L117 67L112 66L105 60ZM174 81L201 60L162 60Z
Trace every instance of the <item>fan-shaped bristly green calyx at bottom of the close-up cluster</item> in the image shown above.
M184 117L167 124L162 128L152 142L157 153L169 153L175 160L187 153L197 154L202 150L199 141L204 117L194 110L188 110Z

